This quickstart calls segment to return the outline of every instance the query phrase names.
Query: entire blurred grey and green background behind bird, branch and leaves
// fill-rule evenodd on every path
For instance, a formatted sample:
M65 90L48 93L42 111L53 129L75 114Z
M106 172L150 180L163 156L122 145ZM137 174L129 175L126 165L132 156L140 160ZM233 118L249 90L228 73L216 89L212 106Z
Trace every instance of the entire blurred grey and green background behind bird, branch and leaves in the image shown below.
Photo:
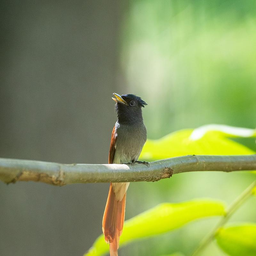
M0 156L107 163L112 93L134 93L148 138L217 123L255 128L254 1L1 2ZM255 140L239 142L255 150ZM193 152L191 152L193 154ZM126 219L161 202L232 202L252 173L132 183ZM0 183L0 254L83 255L101 234L108 184ZM250 199L231 221L256 221ZM120 249L188 255L217 218ZM203 255L224 255L214 243Z

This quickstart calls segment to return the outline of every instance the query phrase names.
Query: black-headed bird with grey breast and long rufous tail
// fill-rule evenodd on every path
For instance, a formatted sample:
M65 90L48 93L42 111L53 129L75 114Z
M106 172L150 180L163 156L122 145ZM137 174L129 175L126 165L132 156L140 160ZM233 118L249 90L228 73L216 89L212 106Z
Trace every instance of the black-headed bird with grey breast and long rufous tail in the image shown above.
M116 104L117 121L113 128L109 164L147 164L138 161L147 140L147 130L143 122L142 107L147 103L134 94L113 93ZM109 244L110 256L118 256L119 238L123 231L126 191L129 182L110 183L108 199L102 220L102 231Z

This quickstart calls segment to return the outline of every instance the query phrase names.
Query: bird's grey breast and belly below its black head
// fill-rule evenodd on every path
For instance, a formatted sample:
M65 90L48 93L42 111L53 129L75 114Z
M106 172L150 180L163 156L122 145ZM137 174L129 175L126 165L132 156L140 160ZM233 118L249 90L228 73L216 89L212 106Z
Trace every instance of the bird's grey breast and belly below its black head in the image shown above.
M116 122L116 133L114 163L137 161L147 140L147 130L143 122L132 125Z

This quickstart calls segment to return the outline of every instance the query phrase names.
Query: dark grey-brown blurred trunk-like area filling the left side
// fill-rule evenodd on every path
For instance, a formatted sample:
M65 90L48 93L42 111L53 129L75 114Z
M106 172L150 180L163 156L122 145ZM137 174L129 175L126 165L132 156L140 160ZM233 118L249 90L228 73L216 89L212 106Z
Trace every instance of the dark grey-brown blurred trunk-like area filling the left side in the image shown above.
M1 157L107 163L121 12L118 1L1 2ZM82 255L107 193L0 183L0 254Z

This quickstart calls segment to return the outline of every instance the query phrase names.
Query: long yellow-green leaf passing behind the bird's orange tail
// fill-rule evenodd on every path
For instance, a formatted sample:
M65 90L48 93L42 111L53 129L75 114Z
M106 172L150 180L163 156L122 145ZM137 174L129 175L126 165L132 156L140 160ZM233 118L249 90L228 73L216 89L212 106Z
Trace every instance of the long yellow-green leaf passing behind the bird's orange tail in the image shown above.
M225 214L222 202L210 199L197 199L182 203L159 204L124 222L120 247L140 238L155 236L177 229L186 223L208 216ZM108 252L109 246L104 236L99 236L86 256L100 256Z

